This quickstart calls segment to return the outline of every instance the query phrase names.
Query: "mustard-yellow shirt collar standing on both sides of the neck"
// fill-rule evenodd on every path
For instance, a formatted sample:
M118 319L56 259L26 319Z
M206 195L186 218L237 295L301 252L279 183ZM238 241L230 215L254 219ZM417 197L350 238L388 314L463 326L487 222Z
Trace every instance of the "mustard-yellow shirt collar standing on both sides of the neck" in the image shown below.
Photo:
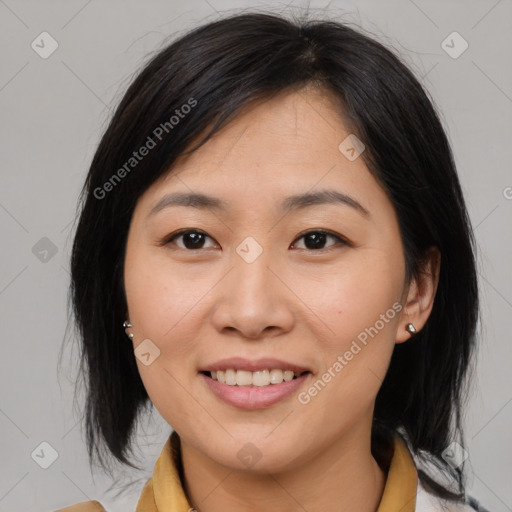
M146 482L136 512L189 512L192 510L181 483L180 439L176 432L167 439L153 476ZM394 438L384 493L377 512L414 512L418 475L411 454L401 437Z

